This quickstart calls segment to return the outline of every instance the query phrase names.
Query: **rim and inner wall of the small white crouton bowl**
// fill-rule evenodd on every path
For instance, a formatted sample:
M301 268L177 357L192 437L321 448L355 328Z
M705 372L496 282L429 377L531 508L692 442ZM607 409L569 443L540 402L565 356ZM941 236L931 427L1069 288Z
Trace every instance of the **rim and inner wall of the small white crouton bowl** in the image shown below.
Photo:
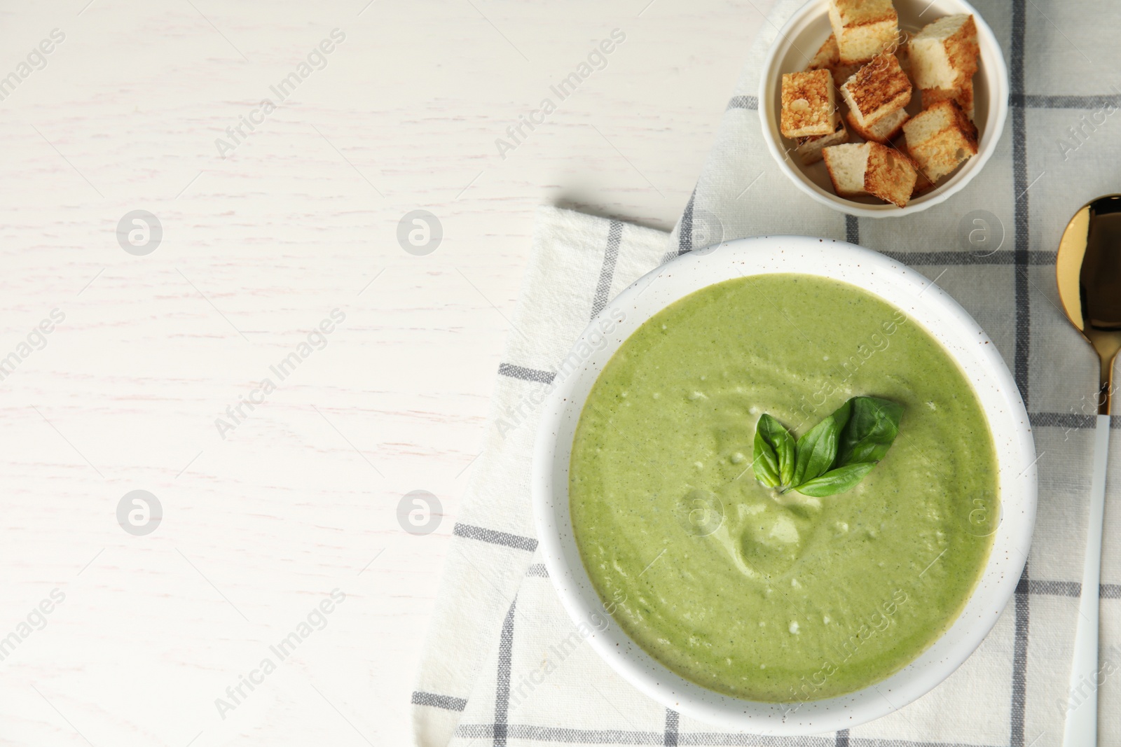
M984 105L988 109L988 116L983 122L978 122L980 143L976 156L962 165L945 184L911 199L905 207L900 208L889 204L874 205L859 203L845 199L830 189L823 189L803 174L799 167L794 166L784 151L782 136L778 131L778 109L776 104L778 90L781 85L781 73L789 73L791 71L780 71L779 60L789 53L794 44L793 39L798 38L806 27L819 24L822 18L826 18L828 0L809 0L809 2L795 11L794 16L779 30L773 44L767 52L759 80L759 119L762 125L763 140L767 142L767 149L778 164L779 170L795 186L822 205L860 217L883 218L911 215L943 203L952 195L961 192L984 168L984 165L989 162L992 155L997 152L997 144L1004 132L1004 122L1008 119L1008 95L1010 91L1008 65L1004 64L1004 53L1000 48L997 35L993 34L981 13L973 6L965 2L965 0L934 0L933 2L930 0L895 0L895 4L901 11L901 15L910 9L921 9L924 19L932 21L943 16L972 13L978 27L978 45L981 48L976 77L984 80L984 91L988 92L984 94L980 90L978 92L978 106L984 101ZM825 24L826 26L828 25L827 19ZM822 36L816 44L821 45L824 40L825 36ZM805 53L812 54L816 49L816 46L813 49L807 48ZM840 97L840 95L839 92L837 96Z

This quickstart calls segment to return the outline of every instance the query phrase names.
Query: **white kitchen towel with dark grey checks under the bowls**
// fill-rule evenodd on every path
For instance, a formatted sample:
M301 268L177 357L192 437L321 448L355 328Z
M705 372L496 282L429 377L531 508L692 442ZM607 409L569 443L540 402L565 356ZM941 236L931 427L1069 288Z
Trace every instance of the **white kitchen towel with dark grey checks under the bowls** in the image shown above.
M1086 200L1121 192L1121 45L1112 3L980 0L1007 55L1012 115L997 156L942 205L906 218L825 209L777 169L754 93L763 54L802 0L780 0L750 53L713 152L677 228L665 234L543 208L499 368L485 451L455 525L413 694L417 741L538 745L1059 745L1086 533L1096 389L1091 348L1059 311L1055 249ZM958 226L984 211L985 251ZM971 220L971 218L969 218ZM972 227L972 224L970 224ZM956 298L1009 363L1040 455L1039 513L1013 601L946 682L851 731L760 738L695 722L601 662L536 557L529 469L537 403L589 318L660 262L721 239L843 237L918 268ZM999 245L997 251L992 246ZM983 256L981 255L983 254ZM1113 427L1121 422L1114 419ZM1112 439L1102 568L1100 744L1121 745L1121 437Z

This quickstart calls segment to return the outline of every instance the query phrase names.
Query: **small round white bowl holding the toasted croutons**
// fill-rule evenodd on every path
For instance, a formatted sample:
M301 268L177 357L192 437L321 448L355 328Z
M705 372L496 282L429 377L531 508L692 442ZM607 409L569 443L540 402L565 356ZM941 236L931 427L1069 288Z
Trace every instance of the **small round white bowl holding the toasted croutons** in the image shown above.
M763 62L762 77L759 82L759 118L762 120L763 139L771 156L778 162L779 169L790 178L799 189L827 205L833 209L859 215L862 217L891 217L909 215L925 211L932 205L945 200L970 183L978 171L997 150L997 141L1004 130L1008 118L1008 67L1004 65L1004 54L997 43L992 29L981 18L981 15L964 0L895 0L899 13L899 27L907 31L917 31L943 16L954 13L972 13L978 27L978 43L981 47L980 67L973 76L974 121L978 125L978 155L965 161L962 167L944 178L934 189L907 203L899 208L886 204L874 197L847 198L833 192L825 164L818 161L804 166L802 158L787 149L795 143L784 138L779 132L779 110L781 109L782 74L803 71L809 64L817 48L828 38L833 29L830 27L827 0L810 0L781 28L767 59ZM808 56L808 57L807 57ZM841 94L837 93L840 100ZM911 104L907 111L919 111L919 92L915 91Z

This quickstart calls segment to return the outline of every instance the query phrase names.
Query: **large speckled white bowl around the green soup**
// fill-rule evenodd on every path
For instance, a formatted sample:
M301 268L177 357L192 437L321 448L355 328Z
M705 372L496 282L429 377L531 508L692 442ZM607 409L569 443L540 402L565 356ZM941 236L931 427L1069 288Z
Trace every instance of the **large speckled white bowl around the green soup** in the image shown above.
M863 288L902 309L942 343L967 375L988 418L1002 508L984 573L961 616L938 641L887 680L847 695L804 703L789 715L782 704L740 700L689 682L634 644L604 614L581 561L568 515L573 435L587 394L612 354L643 321L684 296L741 274L775 272L834 278ZM592 321L573 353L577 356L573 360L582 363L567 375L557 375L543 404L534 448L537 538L565 609L574 622L591 627L593 648L655 700L702 721L757 734L805 735L858 726L942 682L980 645L1011 598L1036 516L1036 457L1028 415L995 345L956 301L910 268L830 239L768 236L726 242L684 254L636 281Z

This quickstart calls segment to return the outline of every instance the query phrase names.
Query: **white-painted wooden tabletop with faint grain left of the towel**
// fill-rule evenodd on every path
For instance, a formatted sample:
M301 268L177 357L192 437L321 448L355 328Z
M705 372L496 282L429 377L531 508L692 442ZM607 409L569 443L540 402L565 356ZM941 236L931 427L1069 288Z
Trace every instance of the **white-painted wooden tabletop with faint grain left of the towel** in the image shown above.
M768 4L6 3L0 744L406 744L534 207L670 228Z

